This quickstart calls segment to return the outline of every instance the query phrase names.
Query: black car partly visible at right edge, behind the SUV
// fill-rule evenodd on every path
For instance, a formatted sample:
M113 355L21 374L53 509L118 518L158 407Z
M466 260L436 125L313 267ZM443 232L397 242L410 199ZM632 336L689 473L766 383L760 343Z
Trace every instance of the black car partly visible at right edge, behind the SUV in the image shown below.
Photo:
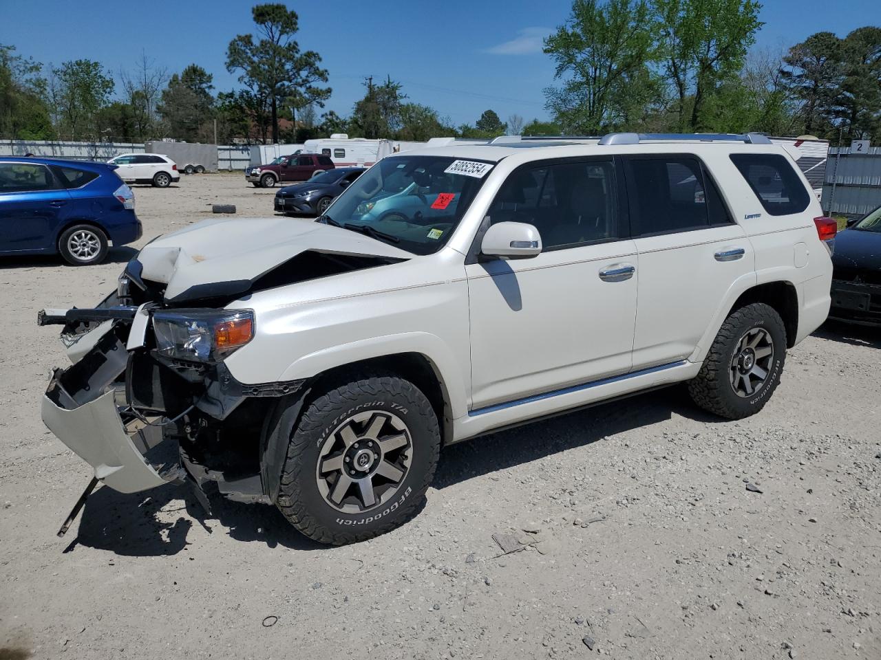
M835 237L831 319L881 326L881 206Z

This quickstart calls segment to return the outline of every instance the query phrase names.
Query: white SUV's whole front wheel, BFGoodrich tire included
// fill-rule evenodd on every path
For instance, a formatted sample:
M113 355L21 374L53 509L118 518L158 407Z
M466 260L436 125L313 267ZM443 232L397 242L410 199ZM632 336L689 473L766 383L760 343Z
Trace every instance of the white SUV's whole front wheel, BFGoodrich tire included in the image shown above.
M276 503L310 539L371 539L423 502L441 434L416 385L391 375L353 379L327 388L292 426Z

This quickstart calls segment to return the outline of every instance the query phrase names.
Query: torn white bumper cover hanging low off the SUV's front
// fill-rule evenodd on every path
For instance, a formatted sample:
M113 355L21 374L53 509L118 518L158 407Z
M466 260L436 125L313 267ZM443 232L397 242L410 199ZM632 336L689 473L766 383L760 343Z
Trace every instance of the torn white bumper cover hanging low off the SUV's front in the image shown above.
M59 385L53 378L43 396L43 422L59 440L93 466L96 479L120 493L137 493L174 480L176 474L163 478L137 451L122 426L113 390L67 409L49 398L50 392L57 387Z

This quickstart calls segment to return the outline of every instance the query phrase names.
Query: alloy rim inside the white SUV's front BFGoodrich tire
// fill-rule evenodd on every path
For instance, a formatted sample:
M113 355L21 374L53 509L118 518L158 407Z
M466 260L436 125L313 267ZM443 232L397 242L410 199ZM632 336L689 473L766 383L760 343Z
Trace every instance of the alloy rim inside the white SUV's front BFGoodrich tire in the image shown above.
M413 460L410 430L396 414L367 410L337 426L322 444L315 480L325 502L362 513L389 502Z

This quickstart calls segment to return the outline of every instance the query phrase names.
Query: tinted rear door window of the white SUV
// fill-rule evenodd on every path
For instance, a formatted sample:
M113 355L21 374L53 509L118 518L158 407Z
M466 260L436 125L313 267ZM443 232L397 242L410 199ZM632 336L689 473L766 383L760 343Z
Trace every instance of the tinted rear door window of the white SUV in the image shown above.
M732 222L718 188L697 158L626 158L626 164L634 236Z

